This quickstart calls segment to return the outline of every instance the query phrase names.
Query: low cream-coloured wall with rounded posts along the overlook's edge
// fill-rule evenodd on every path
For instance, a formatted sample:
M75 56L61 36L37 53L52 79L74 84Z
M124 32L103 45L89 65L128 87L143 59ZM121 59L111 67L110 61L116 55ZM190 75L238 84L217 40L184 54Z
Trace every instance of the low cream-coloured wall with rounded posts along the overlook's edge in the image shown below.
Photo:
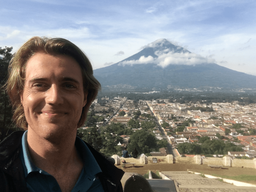
M151 164L151 163L187 163L187 164L204 164L204 165L222 165L226 167L245 167L256 169L256 159L232 159L229 156L224 156L222 158L218 157L205 157L202 158L201 155L195 155L194 157L175 157L173 155L167 156L149 156L141 154L137 158L124 158L118 155L113 155L112 158L115 159L115 165L122 164L125 160L126 163L136 163L136 164Z

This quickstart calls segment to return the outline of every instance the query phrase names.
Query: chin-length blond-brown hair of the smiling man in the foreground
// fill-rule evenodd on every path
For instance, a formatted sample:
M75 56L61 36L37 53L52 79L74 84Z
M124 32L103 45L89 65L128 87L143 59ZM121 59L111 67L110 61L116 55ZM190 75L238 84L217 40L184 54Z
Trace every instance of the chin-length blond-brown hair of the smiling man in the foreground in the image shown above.
M25 67L31 56L36 52L45 52L51 55L67 55L73 57L81 67L83 75L83 90L88 92L87 104L83 107L78 123L81 127L87 117L88 109L96 98L101 84L93 76L92 64L85 53L74 43L63 38L33 37L25 42L12 57L8 67L8 80L6 90L13 106L13 119L16 125L27 130L28 123L24 108L21 104L20 94L23 93L25 83Z

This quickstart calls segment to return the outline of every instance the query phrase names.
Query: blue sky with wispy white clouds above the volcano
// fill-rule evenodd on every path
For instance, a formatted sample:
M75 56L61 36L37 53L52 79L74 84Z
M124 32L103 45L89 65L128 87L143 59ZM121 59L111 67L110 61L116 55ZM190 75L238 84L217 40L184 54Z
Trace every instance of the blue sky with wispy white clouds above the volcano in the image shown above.
M33 36L62 37L94 69L165 38L218 65L256 75L256 1L9 0L0 6L0 47Z

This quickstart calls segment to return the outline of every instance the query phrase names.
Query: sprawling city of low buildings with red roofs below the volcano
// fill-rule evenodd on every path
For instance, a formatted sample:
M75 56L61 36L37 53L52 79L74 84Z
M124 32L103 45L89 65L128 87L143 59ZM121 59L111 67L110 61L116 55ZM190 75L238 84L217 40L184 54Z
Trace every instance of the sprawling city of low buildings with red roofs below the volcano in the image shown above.
M106 132L104 128L107 125L119 123L124 125L124 129L130 129L132 132L145 130L154 134L157 141L168 141L168 145L165 146L168 150L162 150L164 154L161 155L177 156L179 153L186 156L182 151L175 149L179 149L178 146L182 143L198 143L200 137L230 142L240 147L233 148L240 149L239 151L228 151L227 154L218 154L218 151L214 151L214 154L206 154L210 157L231 155L234 158L250 159L256 155L255 104L243 106L234 101L210 105L200 103L185 105L170 103L168 99L134 101L127 100L126 97L114 99L102 97L95 100L92 106L94 118L99 117L98 121L90 124L91 127L97 125L99 132ZM153 117L154 121L152 121ZM89 118L89 121L92 120ZM186 126L183 125L184 122ZM128 130L125 132L128 133ZM123 138L122 148L128 147L130 133L119 135ZM111 134L117 135L115 132ZM159 153L159 151L150 152Z

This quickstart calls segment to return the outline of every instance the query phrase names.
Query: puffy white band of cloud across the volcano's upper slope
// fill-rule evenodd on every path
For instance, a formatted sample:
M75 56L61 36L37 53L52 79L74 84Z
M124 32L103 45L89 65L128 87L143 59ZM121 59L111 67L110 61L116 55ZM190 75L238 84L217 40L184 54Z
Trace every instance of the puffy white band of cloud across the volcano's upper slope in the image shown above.
M119 65L136 65L136 64L148 64L154 63L161 67L166 67L168 65L197 65L202 63L214 63L215 60L210 57L202 57L195 53L173 53L172 51L155 51L157 58L152 56L141 56L139 60L129 60L120 62Z

